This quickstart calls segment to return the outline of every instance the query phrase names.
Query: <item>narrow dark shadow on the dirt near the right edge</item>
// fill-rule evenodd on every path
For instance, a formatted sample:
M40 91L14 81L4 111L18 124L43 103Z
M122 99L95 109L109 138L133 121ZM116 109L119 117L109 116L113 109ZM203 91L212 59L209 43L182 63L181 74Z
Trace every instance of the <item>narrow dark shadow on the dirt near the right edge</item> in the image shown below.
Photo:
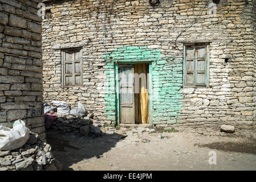
M195 144L196 145L196 144ZM207 147L225 152L241 152L247 154L256 154L256 140L249 142L214 142L209 144L200 144L199 147Z

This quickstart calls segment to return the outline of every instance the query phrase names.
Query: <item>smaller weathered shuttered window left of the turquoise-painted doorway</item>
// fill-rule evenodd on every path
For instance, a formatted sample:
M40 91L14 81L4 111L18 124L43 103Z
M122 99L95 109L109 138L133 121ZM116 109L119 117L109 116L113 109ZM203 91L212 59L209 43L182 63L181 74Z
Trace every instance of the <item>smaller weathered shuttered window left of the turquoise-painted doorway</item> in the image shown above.
M82 50L62 50L62 87L83 85Z

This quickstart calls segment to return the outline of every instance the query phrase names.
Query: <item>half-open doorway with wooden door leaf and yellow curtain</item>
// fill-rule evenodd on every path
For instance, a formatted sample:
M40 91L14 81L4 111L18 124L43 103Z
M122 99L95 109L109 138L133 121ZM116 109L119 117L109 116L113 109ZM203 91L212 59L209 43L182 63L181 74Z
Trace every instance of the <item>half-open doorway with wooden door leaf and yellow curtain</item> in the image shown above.
M119 64L120 123L149 123L149 64Z

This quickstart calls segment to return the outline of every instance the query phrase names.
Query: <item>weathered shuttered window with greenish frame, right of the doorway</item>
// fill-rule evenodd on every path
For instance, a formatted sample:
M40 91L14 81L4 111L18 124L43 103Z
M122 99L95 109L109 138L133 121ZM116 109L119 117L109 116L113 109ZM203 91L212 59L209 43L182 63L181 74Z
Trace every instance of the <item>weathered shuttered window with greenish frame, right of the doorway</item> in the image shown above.
M184 46L184 88L209 86L209 45Z

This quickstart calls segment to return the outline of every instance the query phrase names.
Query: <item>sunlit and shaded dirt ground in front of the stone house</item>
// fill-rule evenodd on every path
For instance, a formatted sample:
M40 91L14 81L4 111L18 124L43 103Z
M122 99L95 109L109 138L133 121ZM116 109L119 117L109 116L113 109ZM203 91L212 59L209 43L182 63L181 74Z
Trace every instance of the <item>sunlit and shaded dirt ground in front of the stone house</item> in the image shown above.
M63 170L256 170L255 131L144 130L121 128L102 137L46 134ZM216 164L209 164L210 151Z

